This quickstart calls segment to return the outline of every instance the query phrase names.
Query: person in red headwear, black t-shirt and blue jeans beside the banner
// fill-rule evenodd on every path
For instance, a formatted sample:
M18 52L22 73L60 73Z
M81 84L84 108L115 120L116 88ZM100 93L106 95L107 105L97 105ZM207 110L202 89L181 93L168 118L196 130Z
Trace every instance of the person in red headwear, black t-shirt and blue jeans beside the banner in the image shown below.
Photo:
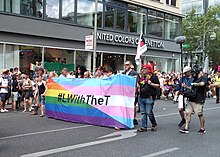
M137 88L139 92L138 104L141 110L142 127L138 132L147 131L149 117L152 127L151 131L156 131L157 122L153 113L154 101L157 95L157 89L160 88L158 77L153 74L153 68L150 64L142 66L141 74L137 76Z

